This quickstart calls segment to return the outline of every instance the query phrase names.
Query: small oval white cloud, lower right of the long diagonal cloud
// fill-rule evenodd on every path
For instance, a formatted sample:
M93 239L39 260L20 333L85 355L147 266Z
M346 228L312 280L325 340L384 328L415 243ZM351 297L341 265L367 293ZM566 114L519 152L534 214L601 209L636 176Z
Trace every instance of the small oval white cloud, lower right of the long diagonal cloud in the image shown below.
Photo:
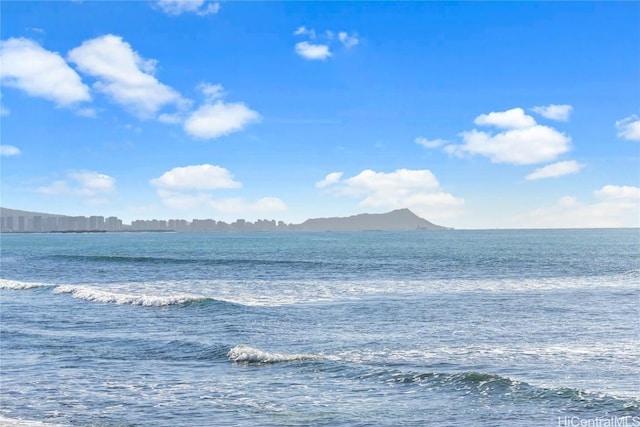
M191 113L184 130L194 138L214 139L244 129L260 120L260 114L241 102L205 104Z

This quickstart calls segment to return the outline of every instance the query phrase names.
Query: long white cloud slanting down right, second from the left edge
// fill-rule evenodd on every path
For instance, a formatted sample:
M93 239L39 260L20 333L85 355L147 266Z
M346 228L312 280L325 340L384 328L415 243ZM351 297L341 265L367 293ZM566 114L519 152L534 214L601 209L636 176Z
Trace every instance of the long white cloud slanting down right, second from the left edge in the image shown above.
M184 100L154 76L155 60L145 60L122 37L108 34L71 50L69 60L98 81L94 87L141 118L154 116L168 104Z

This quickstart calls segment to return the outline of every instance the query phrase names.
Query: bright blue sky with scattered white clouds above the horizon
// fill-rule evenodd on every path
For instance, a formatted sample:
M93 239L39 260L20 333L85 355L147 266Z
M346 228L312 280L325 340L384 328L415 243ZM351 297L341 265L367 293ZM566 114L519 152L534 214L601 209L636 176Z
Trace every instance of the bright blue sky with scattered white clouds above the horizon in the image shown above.
M0 204L640 226L640 3L3 1Z

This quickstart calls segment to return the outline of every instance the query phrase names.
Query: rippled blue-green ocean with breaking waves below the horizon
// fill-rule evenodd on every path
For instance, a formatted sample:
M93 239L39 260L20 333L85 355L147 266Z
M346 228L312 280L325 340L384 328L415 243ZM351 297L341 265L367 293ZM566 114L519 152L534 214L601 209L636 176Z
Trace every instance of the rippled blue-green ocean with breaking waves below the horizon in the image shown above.
M3 425L640 426L637 229L1 250Z

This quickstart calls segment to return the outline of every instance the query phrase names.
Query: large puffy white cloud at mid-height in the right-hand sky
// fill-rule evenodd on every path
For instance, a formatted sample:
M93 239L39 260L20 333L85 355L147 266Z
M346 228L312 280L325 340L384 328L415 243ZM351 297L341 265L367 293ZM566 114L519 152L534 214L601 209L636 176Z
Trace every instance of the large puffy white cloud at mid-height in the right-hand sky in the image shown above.
M445 151L454 155L478 154L494 163L527 165L553 161L571 148L571 138L536 123L521 108L482 114L474 123L504 130L497 133L477 129L462 132L464 143L447 145Z

